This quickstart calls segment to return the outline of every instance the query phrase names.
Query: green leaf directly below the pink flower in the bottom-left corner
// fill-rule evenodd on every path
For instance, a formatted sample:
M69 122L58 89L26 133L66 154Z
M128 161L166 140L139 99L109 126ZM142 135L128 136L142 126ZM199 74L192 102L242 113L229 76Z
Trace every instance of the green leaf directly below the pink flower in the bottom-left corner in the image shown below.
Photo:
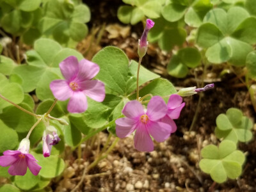
M17 175L15 176L14 183L15 185L25 191L28 191L29 189L32 189L33 187L38 184L38 181L40 180L39 175L33 175L30 170L27 170L27 173L23 176Z

